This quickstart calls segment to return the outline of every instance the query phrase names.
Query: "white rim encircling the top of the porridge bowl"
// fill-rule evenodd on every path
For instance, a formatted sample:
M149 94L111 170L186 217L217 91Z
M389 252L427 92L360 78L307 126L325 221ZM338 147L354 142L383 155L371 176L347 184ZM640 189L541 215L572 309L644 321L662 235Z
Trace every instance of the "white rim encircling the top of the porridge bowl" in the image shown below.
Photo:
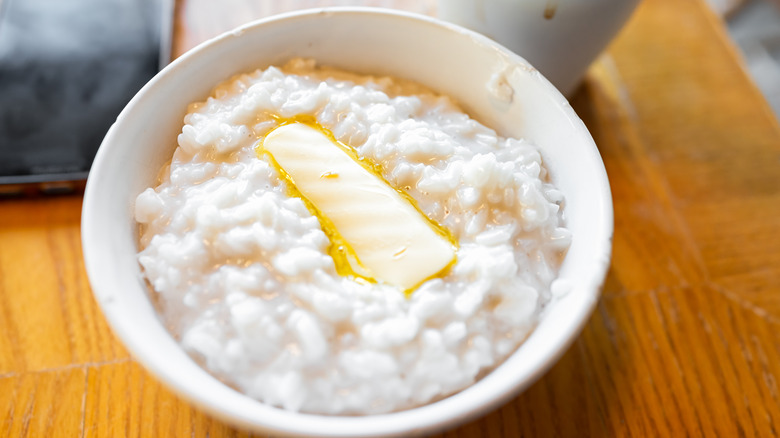
M433 403L387 414L328 416L290 412L270 405L265 405L264 403L250 399L247 396L244 397L258 405L257 408L252 410L251 415L247 415L249 411L246 410L242 410L241 413L237 414L236 411L226 408L218 401L211 400L208 397L204 398L202 392L194 385L188 385L187 382L177 380L175 373L166 370L164 366L160 365L158 361L155 360L155 358L145 354L143 343L133 336L131 330L132 326L121 322L126 316L123 316L119 309L106 305L105 298L107 293L104 286L107 286L107 283L99 278L101 277L100 271L103 261L99 254L92 251L92 248L98 247L101 244L100 237L94 232L96 228L93 224L99 221L99 219L95 217L96 215L94 215L94 212L98 209L98 206L96 205L97 201L95 200L95 192L99 181L106 178L106 176L103 175L105 172L101 169L103 168L103 162L110 159L108 151L111 149L110 145L113 143L114 137L116 136L117 126L120 125L129 114L134 112L134 108L140 105L144 96L154 90L156 84L160 82L162 77L175 74L175 72L180 69L186 69L188 64L192 62L191 60L201 56L203 52L218 51L221 44L226 43L233 38L240 37L247 31L265 26L268 23L316 17L323 13L390 15L399 20L422 21L428 25L437 26L449 32L465 34L477 44L499 50L503 52L504 56L509 57L513 61L530 65L522 57L512 53L500 44L479 33L426 15L377 7L325 7L298 10L255 20L211 38L182 54L144 85L120 113L116 122L112 125L104 138L95 161L93 162L93 170L90 173L90 178L87 180L82 207L82 248L89 282L96 301L101 306L112 331L122 341L132 357L138 361L143 368L148 370L167 388L171 389L188 402L233 425L252 430L273 431L282 434L308 434L320 436L408 435L419 434L423 431L432 432L454 427L457 424L464 423L504 404L510 398L516 396L519 392L533 384L559 360L582 331L582 328L593 312L609 268L614 225L611 191L603 161L590 133L574 110L571 109L566 98L541 75L539 75L539 85L545 87L546 92L556 100L556 103L559 106L563 107L569 122L579 130L579 135L583 136L590 146L592 146L590 148L590 154L593 155L594 162L597 163L597 166L599 167L596 169L596 173L600 179L600 181L596 181L595 185L596 190L600 192L600 197L603 201L597 206L599 215L603 220L598 224L599 229L594 232L603 235L605 238L600 240L600 243L603 244L602 247L594 249L596 258L599 259L600 263L591 271L591 275L588 278L588 285L585 287L587 291L592 292L592 295L584 297L584 304L577 307L573 318L563 322L563 325L566 326L563 339L561 339L560 342L553 343L554 345L545 349L545 355L542 360L540 360L539 366L525 378L515 378L509 382L509 384L501 382L499 385L496 384L496 382L493 382L491 385L487 385L485 382L489 380L488 377L491 374L494 374L496 370L503 367L506 364L506 362L504 362L492 370L487 377L482 378L458 393ZM514 354L511 356L514 356ZM460 400L465 399L466 397L467 402L460 402ZM267 415L258 415L258 413L267 413Z

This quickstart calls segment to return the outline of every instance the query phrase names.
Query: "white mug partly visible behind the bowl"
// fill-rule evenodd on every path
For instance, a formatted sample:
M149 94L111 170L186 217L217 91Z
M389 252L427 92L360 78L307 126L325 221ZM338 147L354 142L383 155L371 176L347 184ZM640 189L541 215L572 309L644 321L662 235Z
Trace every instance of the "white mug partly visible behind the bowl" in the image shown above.
M439 0L439 17L527 59L566 96L639 0Z

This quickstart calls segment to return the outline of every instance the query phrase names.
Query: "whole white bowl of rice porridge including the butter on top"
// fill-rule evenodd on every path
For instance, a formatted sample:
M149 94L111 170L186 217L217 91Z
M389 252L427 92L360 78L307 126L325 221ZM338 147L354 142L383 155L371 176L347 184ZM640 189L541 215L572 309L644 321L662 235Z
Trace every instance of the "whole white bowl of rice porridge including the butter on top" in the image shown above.
M399 11L257 21L171 63L98 151L85 265L114 332L241 428L409 436L507 402L609 266L604 165L565 98Z

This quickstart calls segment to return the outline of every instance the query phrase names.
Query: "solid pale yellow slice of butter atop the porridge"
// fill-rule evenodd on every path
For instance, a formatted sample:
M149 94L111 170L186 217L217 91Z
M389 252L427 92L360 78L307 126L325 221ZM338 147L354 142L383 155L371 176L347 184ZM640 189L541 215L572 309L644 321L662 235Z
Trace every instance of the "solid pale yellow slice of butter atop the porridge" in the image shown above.
M262 148L349 244L356 272L410 290L454 261L454 245L409 200L321 130L282 125Z

